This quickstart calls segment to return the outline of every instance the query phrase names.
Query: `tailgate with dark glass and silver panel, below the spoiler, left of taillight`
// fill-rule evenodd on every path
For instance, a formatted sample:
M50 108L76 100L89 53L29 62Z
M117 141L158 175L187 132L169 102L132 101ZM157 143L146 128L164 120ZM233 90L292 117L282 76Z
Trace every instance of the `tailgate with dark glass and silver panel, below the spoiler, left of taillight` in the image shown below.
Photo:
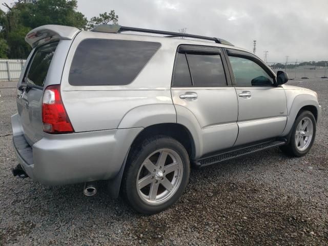
M34 50L28 68L17 90L17 109L30 145L42 138L42 99L48 69L58 42Z

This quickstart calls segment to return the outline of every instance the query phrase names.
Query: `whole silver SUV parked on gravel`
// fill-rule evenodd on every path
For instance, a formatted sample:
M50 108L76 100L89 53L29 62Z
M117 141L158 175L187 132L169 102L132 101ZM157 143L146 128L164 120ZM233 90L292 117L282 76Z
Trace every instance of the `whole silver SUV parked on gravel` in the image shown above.
M107 180L113 197L152 214L178 200L191 166L312 147L317 94L226 40L111 25L47 25L25 40L11 117L19 177L85 182L86 195Z

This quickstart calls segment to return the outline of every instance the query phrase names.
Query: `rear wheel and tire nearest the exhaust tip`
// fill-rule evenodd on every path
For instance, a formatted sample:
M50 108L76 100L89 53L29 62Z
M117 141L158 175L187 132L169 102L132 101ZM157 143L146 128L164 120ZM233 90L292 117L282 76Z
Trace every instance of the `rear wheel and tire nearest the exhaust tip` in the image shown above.
M122 194L137 212L159 213L179 199L189 173L189 156L180 142L168 136L150 137L131 149Z

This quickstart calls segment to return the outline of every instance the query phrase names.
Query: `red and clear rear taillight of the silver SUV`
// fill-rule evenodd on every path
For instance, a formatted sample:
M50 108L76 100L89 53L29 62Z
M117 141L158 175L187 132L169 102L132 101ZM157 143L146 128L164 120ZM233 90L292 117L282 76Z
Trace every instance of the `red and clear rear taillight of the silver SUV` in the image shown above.
M74 132L60 96L60 86L48 86L42 100L43 130L60 134Z

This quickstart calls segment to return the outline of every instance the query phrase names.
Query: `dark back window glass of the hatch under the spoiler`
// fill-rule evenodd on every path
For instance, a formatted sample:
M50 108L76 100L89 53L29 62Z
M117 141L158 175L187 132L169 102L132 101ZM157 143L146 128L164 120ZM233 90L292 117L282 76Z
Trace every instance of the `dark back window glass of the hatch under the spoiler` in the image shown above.
M39 47L33 56L30 68L26 74L25 82L43 87L58 43L51 43Z

